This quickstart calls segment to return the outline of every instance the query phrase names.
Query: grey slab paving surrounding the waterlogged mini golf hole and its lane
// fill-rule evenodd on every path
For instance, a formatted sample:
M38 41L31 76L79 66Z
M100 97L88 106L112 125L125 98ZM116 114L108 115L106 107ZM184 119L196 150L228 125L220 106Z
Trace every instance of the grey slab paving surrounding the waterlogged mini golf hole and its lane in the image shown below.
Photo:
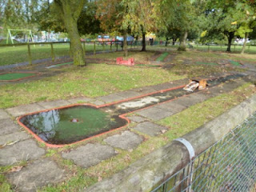
M26 106L16 106L6 110L0 110L0 166L15 165L21 161L27 161L27 166L22 170L6 174L8 181L18 191L35 191L36 188L50 183L64 181L70 174L58 166L53 159L46 157L46 148L40 146L21 126L14 120L16 117L36 112L38 110L51 109L58 106L66 106L78 102L102 105L107 102L115 102L126 98L149 94L158 90L166 90L176 86L185 85L188 79L176 82L166 82L156 86L146 86L124 92L110 94L98 98L72 98L52 102L38 102ZM76 165L83 168L95 166L102 160L117 154L116 149L133 150L144 141L143 134L151 137L163 134L166 127L155 123L162 118L185 110L198 102L234 90L245 83L244 80L230 81L222 86L215 86L210 90L190 94L187 97L178 98L171 102L159 103L150 108L138 110L130 116L135 126L130 130L119 131L104 139L104 143L86 143L67 152L62 152L62 158L70 159ZM141 133L141 134L140 134Z

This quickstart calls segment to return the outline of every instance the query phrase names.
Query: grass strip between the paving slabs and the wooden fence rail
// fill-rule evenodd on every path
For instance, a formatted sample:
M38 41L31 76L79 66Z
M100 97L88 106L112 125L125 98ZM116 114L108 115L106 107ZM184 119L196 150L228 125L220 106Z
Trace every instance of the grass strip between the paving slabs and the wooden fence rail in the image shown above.
M97 166L92 166L87 170L75 166L73 162L61 160L62 158L57 158L56 155L56 159L62 161L62 166L68 167L74 176L69 180L66 180L66 182L62 182L56 186L46 186L39 191L61 192L84 190L86 187L125 169L131 163L144 157L146 154L150 154L153 150L166 145L167 142L172 141L174 138L181 137L183 134L216 118L219 114L238 105L239 102L246 100L246 98L249 98L255 92L255 86L251 83L246 83L230 93L210 98L205 102L198 103L183 110L181 113L158 121L158 124L169 127L169 130L165 134L159 135L158 137L143 135L146 137L145 142L142 142L136 149L131 151L116 149L118 151L116 156L106 161L102 161ZM118 131L121 132L122 130ZM107 136L108 135L103 136L102 139Z

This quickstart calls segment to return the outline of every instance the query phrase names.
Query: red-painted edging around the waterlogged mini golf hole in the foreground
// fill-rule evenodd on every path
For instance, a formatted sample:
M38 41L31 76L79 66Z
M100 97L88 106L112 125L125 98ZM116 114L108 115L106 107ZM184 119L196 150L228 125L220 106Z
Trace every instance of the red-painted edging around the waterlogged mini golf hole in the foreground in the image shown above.
M81 103L81 104L78 103L78 104L72 104L72 105L68 105L68 106L56 107L56 108L53 108L53 109L39 110L39 111L36 111L36 112L33 112L33 113L24 114L24 115L18 117L18 118L17 118L17 121L18 121L18 124L19 124L20 126L24 127L30 134L32 134L32 135L34 136L34 138L36 138L39 142L44 143L44 144L45 144L46 146L48 146L48 147L58 148L58 147L63 147L63 146L70 146L70 145L73 145L73 144L77 144L77 143L79 143L79 142L87 141L87 140L89 140L89 139L91 139L91 138L99 137L99 136L101 136L102 134L107 134L107 133L110 133L110 132L112 132L112 131L114 131L114 130L120 130L120 129L122 129L123 127L128 126L129 123L130 123L130 119L129 119L129 118L126 118L126 115L127 115L127 114L130 114L130 113L134 113L134 111L138 111L138 110L134 110L134 111L131 111L131 112L126 113L126 114L120 114L120 115L118 116L119 118L123 118L123 119L125 119L125 120L127 121L126 126L121 126L121 127L116 128L116 129L113 129L113 130L108 130L108 131L106 131L106 132L104 132L104 133L102 133L102 134L96 134L96 135L94 135L94 136L91 136L90 138L85 138L85 139L82 139L82 140L80 140L80 141L78 141L78 142L72 142L72 143L63 144L63 145L55 145L55 144L50 144L50 143L47 143L47 142L43 141L42 138L38 137L37 134L35 134L32 130L30 130L27 126L25 126L25 125L20 121L20 119L23 118L23 117L25 117L26 115L38 114L38 113L46 112L46 111L49 111L49 110L60 110L60 109L65 109L65 108L69 108L69 107L72 107L72 106L93 106L93 107L95 107L95 108L98 109L98 108L102 108L102 107L104 107L104 106L111 106L111 105L114 105L114 104L117 104L117 103L120 103L120 102L128 102L128 101L133 100L133 99L136 99L136 98L143 98L143 97L149 96L149 95L151 95L151 94L163 93L163 92L166 92L166 91L169 91L169 90L178 90L178 89L183 88L184 86L185 86L185 85L183 85L183 86L176 86L176 87L173 87L173 88L170 88L170 89L166 89L166 90L158 90L158 91L155 91L155 92L151 92L151 93L149 93L149 94L142 94L142 95L139 95L139 96L134 97L134 98L126 98L126 99L122 99L122 100L120 100L120 101L118 101L118 102L110 102L110 103L103 104L103 105L100 105L100 106L95 106L95 105L90 104L90 103ZM187 95L186 95L186 96L187 96ZM176 99L176 98L174 98L174 99ZM169 101L166 101L166 102L173 101L174 99L169 100ZM160 104L160 103L164 103L164 102L159 102L158 104ZM158 105L158 104L156 104L156 105ZM156 106L156 105L154 105L154 106ZM152 107L152 106L148 106L148 107L146 107L146 108L150 108L150 107ZM146 108L142 108L142 109L140 109L140 110L144 110L144 109L146 109Z

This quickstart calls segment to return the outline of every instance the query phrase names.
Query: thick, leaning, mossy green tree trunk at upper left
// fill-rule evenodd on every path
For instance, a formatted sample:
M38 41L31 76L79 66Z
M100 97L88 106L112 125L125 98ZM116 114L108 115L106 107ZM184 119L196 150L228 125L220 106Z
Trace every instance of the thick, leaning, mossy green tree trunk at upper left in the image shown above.
M67 33L70 36L70 46L75 66L85 66L85 57L78 32L78 18L85 5L85 0L54 0L54 6L58 9Z

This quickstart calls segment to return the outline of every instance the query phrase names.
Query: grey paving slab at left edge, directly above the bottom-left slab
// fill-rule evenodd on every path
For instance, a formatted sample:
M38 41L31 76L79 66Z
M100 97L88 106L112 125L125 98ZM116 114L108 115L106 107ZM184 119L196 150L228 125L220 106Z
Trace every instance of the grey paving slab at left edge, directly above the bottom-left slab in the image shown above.
M22 160L40 158L45 154L45 150L38 147L33 139L28 139L1 148L0 154L0 166L7 166Z

